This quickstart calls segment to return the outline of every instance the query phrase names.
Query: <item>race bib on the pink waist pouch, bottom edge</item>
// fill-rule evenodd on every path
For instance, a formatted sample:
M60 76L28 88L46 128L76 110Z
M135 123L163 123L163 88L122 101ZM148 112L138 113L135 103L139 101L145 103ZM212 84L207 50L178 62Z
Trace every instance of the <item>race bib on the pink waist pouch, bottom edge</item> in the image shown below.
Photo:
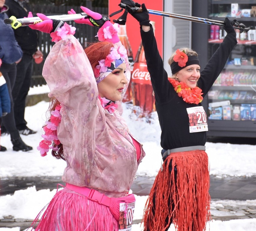
M120 217L118 224L118 231L131 231L133 224L133 212L135 208L135 202L132 203L120 203ZM126 211L126 215L125 215Z

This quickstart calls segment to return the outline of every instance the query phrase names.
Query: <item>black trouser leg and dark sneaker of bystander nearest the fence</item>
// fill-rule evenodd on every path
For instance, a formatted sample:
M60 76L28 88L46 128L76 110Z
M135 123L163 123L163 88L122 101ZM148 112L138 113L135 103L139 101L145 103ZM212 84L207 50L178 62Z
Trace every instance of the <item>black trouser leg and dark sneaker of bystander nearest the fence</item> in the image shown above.
M16 127L20 134L30 135L36 133L27 127L25 120L26 96L29 92L29 87L32 77L32 56L23 54L22 60L17 64L17 75L12 90L14 100L14 118Z

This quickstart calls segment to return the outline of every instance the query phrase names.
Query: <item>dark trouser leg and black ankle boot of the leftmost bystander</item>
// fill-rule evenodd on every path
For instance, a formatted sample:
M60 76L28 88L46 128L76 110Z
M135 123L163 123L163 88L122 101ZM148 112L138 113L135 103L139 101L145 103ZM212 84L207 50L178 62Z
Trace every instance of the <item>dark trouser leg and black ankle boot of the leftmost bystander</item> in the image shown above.
M16 64L7 64L2 63L1 72L5 77L5 81L7 84L10 100L11 100L11 112L6 116L2 117L2 124L5 129L11 135L11 142L13 144L14 151L29 151L32 150L32 147L26 145L23 140L20 138L20 133L16 128L15 120L14 120L14 103L12 98L12 87L14 86L15 78L16 78Z

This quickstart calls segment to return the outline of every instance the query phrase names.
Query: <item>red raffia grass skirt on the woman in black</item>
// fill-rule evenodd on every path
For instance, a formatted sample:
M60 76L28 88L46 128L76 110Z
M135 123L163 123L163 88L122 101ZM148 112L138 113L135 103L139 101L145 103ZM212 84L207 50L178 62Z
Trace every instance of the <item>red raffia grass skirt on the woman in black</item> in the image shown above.
M176 184L175 171L169 172L168 168L171 160L172 169L177 168ZM171 222L179 231L206 230L206 223L211 220L209 187L208 156L205 151L171 153L163 164L163 171L159 170L146 202L144 230L163 231ZM169 218L167 224L166 218Z

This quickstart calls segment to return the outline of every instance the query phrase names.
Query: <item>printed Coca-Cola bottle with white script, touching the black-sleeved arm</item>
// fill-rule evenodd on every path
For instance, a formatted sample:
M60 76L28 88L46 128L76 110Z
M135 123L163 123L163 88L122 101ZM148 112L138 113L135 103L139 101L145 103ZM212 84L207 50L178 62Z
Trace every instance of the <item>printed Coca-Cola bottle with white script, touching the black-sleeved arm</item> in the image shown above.
M151 21L150 23L155 29L155 22ZM149 116L151 112L155 111L155 97L142 43L135 57L131 79L133 105L141 108L141 116Z

